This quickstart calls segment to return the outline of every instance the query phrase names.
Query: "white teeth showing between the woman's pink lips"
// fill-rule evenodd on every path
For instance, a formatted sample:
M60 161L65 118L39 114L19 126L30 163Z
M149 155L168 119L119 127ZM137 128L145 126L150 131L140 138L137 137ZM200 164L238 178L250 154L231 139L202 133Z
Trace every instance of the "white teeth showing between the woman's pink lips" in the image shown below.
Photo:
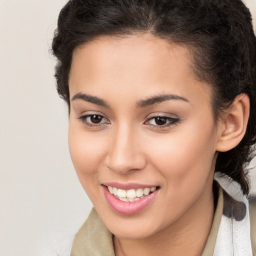
M137 189L120 189L113 186L105 186L108 191L115 196L115 198L124 201L124 202L133 202L142 199L143 197L151 194L156 189L159 189L159 186L137 188Z

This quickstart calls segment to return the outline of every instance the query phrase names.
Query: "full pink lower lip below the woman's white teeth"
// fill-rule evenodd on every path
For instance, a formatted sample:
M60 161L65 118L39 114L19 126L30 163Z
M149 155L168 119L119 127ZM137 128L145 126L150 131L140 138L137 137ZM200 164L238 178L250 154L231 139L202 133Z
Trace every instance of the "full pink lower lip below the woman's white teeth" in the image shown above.
M110 206L112 207L112 209L117 213L125 214L125 215L135 214L135 213L138 213L139 211L142 211L144 208L146 208L146 206L148 206L150 202L152 202L152 200L155 198L159 190L158 188L152 193L146 195L145 197L137 201L124 202L116 198L113 194L111 194L108 191L106 186L102 185L102 188L103 188L105 198L107 202L110 204Z

